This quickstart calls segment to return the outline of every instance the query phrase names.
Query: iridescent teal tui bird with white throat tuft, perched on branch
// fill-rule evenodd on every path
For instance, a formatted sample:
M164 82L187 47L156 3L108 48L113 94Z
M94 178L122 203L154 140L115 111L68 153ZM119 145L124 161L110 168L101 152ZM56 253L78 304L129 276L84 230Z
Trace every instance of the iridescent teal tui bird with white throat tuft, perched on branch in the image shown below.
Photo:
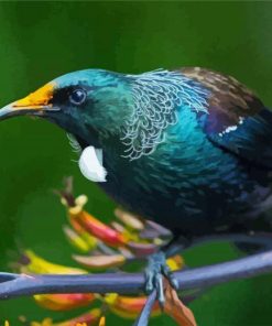
M251 231L272 207L272 113L235 78L199 67L140 75L86 69L61 76L0 110L69 133L79 167L127 209L189 244ZM146 290L163 273L150 258Z

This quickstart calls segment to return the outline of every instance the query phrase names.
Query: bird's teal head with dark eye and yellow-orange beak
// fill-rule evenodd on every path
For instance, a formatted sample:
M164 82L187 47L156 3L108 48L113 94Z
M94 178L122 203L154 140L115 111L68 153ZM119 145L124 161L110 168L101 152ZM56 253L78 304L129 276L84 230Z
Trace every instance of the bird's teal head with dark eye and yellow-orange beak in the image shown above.
M102 143L120 133L130 115L130 101L129 85L123 75L101 69L79 70L53 79L3 107L0 120L25 115L45 118L73 134L81 151L88 146L93 152L98 149L94 153L101 161Z

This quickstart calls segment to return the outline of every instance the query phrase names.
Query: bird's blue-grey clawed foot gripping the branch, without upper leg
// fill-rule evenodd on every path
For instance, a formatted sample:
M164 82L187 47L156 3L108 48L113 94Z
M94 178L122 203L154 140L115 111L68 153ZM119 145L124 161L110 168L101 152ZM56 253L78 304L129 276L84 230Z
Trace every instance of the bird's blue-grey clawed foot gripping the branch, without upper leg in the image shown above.
M177 290L177 280L172 274L167 263L166 257L163 251L153 253L149 258L148 268L145 270L145 292L150 294L153 290L156 290L157 301L163 306L165 302L163 276L166 278L170 284Z

